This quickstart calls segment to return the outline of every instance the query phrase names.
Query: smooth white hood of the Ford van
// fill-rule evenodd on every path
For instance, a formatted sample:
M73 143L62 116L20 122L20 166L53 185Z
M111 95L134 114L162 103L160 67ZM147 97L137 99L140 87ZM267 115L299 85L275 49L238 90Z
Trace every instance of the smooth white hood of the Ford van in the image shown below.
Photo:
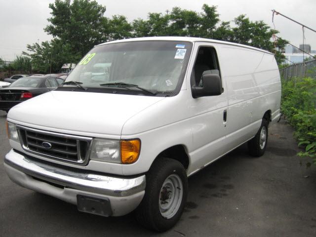
M47 128L121 135L129 118L164 98L51 91L14 106L7 118Z

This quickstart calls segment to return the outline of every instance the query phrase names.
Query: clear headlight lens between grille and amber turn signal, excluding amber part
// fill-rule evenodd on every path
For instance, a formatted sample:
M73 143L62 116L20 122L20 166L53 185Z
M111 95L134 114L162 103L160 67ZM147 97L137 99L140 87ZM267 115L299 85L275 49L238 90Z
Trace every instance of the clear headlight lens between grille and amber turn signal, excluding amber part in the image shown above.
M90 159L120 163L119 140L95 138Z

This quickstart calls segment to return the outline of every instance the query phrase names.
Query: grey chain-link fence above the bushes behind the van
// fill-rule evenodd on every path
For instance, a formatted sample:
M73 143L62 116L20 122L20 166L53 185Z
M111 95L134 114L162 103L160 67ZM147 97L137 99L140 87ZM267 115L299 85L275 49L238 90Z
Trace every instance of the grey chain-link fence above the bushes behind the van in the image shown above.
M316 59L306 61L304 63L297 63L290 65L280 70L280 76L285 79L293 77L298 78L315 78L316 79Z

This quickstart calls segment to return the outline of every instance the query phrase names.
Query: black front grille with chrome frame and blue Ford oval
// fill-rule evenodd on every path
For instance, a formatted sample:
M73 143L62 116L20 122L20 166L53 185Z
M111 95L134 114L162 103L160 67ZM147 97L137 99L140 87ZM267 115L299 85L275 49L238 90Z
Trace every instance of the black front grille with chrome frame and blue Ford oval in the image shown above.
M48 132L17 125L24 150L52 159L84 165L92 138Z

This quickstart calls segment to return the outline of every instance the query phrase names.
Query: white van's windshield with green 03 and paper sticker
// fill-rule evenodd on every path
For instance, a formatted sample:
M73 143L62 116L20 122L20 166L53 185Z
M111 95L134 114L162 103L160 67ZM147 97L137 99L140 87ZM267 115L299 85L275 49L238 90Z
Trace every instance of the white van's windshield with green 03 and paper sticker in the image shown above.
M122 82L172 95L180 90L191 49L191 42L162 40L96 46L66 81L81 82L88 88L123 87L122 84L104 85ZM128 87L128 90L138 89Z

